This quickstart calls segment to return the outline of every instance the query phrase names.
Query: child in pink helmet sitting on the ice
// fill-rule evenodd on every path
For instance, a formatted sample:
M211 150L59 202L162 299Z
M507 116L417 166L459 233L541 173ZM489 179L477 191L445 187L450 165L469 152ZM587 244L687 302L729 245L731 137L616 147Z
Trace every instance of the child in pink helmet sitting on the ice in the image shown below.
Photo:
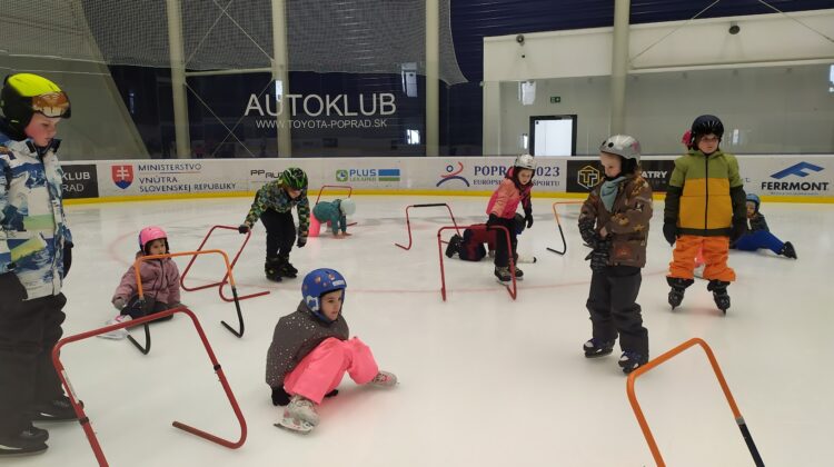
M136 257L165 255L169 252L168 236L160 227L146 227L139 232L139 248ZM179 302L179 269L171 258L150 259L140 262L139 276L142 280L145 302L139 302L139 288L136 284L133 265L121 276L121 282L113 294L113 307L119 315L107 321L107 326L129 321L142 316L152 315L177 307ZM171 316L159 319L165 321ZM106 339L123 339L127 329L118 329L99 337Z

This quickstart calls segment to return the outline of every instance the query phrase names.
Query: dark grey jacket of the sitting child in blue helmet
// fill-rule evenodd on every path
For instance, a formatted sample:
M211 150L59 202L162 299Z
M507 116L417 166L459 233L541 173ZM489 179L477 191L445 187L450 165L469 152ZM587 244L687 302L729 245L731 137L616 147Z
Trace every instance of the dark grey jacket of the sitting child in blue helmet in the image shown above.
M321 341L330 337L347 340L348 335L341 314L335 321L325 322L301 300L295 312L282 317L275 326L267 351L267 384L272 388L284 387L284 377Z

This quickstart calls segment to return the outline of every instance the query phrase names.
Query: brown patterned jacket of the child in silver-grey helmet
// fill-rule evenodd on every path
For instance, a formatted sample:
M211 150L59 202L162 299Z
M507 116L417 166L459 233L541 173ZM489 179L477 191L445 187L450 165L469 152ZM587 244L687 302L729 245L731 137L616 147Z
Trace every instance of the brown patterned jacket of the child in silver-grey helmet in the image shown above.
M597 236L605 227L612 239L609 266L646 266L648 222L652 220L652 186L639 175L626 176L617 188L617 197L610 212L605 209L599 197L602 187L602 182L594 187L582 205L579 225L587 220L596 221L594 231Z

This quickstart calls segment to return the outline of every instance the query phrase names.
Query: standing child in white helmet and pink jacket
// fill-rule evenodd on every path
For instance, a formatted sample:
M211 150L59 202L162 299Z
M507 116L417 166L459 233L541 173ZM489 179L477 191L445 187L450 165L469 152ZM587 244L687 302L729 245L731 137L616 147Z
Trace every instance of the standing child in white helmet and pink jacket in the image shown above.
M533 189L533 173L536 171L536 160L530 155L522 155L516 158L509 170L487 205L487 228L494 226L506 227L509 231L509 240L513 247L513 261L516 262L518 254L516 247L516 229L514 218L516 209L520 203L524 207L524 220L527 228L533 227L533 203L530 202L530 190ZM502 282L513 280L509 275L509 251L504 230L498 232L495 246L495 276ZM524 272L516 266L516 279L522 279Z

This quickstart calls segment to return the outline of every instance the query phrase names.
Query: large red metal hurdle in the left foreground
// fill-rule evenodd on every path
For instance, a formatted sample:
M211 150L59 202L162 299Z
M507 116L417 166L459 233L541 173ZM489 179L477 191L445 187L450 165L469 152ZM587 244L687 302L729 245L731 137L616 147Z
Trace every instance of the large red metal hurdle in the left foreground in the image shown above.
M200 321L197 319L197 316L195 316L193 311L189 310L187 307L177 307L170 310L161 311L159 314L153 314L151 316L137 318L132 321L120 322L118 325L106 326L103 328L93 329L87 332L77 334L75 336L64 337L63 339L59 340L56 344L54 348L52 349L52 365L54 365L56 371L58 372L58 377L61 379L61 384L67 390L67 395L69 396L70 403L72 404L72 408L76 411L78 421L79 424L81 424L81 428L85 430L85 434L87 435L87 439L90 443L90 447L92 448L92 451L96 455L96 459L98 460L98 464L101 467L107 467L109 466L109 464L107 463L105 453L101 449L101 445L99 444L98 437L96 436L96 431L92 429L92 426L90 425L90 419L87 417L87 414L85 413L85 407L79 403L78 396L76 395L76 391L72 388L72 384L70 382L69 376L67 375L67 369L61 362L61 357L60 357L61 348L71 342L88 339L88 338L99 336L105 332L110 332L117 329L123 329L129 326L145 325L147 329L148 321L152 321L159 318L165 318L167 316L172 316L173 314L177 314L177 312L181 312L183 315L187 315L189 318L191 318L191 322L193 324L193 327L197 330L197 334L199 335L200 340L202 341L202 346L206 349L206 354L208 355L208 358L211 361L211 367L214 368L215 374L217 375L217 378L220 380L220 385L224 388L224 393L226 393L226 397L229 399L231 409L235 411L235 417L237 417L238 424L240 426L240 437L236 441L232 441L232 440L227 440L218 436L211 435L207 431L191 427L180 421L175 420L171 425L173 425L176 428L179 428L183 431L199 436L200 438L207 439L211 443L218 444L229 449L237 449L244 446L244 443L246 443L246 436L247 436L246 419L244 418L244 414L240 410L240 406L238 405L237 399L235 399L235 394L231 391L229 381L226 379L226 375L224 374L224 370L220 367L220 364L217 360L217 357L215 356L214 350L211 349L211 345L209 344L208 338L206 337L206 332L203 332L202 327L200 326Z

